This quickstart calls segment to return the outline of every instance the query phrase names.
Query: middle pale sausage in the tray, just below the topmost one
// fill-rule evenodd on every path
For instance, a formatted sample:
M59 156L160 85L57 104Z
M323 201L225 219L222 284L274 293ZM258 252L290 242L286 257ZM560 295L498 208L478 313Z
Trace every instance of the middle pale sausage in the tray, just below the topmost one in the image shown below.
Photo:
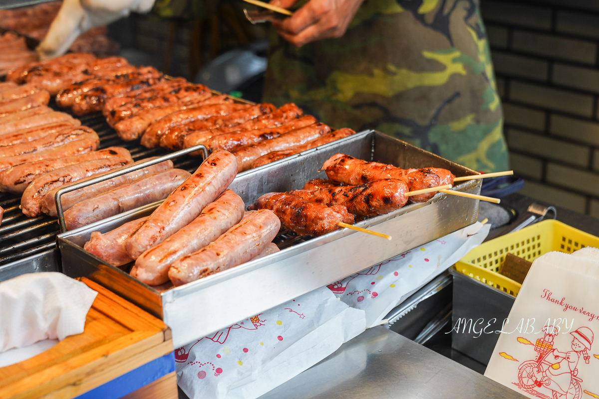
M226 190L191 223L141 254L131 275L149 285L164 284L174 261L199 251L239 223L244 209L241 197Z

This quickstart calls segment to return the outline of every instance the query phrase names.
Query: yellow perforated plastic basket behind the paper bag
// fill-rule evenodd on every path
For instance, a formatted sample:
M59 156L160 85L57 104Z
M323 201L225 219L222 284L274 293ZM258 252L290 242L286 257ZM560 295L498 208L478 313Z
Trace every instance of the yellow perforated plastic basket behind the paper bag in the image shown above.
M471 278L516 296L522 285L497 273L508 252L532 262L546 252L571 254L585 246L599 248L599 238L556 220L544 220L477 246L461 258L455 268Z

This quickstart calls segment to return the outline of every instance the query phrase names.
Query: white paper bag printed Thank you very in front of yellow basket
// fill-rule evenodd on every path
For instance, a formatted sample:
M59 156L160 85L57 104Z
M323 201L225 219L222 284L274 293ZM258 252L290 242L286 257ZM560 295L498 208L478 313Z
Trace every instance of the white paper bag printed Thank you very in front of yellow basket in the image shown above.
M530 398L599 398L597 288L592 250L537 258L485 376Z

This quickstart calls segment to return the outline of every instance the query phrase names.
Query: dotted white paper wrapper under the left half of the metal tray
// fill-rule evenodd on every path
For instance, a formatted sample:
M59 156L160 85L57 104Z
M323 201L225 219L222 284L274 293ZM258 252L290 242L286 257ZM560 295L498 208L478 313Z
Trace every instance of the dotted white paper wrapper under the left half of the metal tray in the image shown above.
M255 399L364 330L323 287L177 349L177 380L190 398Z

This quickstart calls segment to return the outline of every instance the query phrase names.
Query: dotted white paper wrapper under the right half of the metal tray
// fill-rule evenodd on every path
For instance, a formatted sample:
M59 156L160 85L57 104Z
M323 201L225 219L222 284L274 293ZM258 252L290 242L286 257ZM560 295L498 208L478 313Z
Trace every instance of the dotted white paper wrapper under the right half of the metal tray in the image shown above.
M447 270L485 240L491 226L479 222L355 273L328 287L341 301L366 312L367 328Z

